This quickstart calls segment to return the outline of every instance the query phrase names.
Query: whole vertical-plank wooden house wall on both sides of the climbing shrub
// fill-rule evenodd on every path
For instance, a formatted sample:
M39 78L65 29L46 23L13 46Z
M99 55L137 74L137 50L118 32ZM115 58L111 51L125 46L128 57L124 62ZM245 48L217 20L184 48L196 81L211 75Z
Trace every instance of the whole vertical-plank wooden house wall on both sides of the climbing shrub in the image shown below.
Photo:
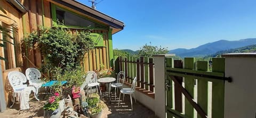
M19 44L18 50L15 50L16 55L18 55L19 59L19 65L14 65L9 70L5 70L4 61L1 61L1 66L3 69L3 81L5 83L5 88L9 89L10 86L7 82L7 74L10 71L18 70L25 73L26 68L34 67L34 68L40 68L41 62L42 62L42 55L41 51L38 49L31 49L31 48L22 48L21 49L21 40L23 37L26 37L29 33L31 33L34 30L37 30L39 25L50 27L52 26L52 17L51 17L51 2L46 0L33 0L33 1L27 1L27 0L20 0L21 4L23 4L27 9L28 12L23 14L19 11L17 11L13 6L11 6L9 3L5 1L0 1L0 6L4 8L4 10L7 12L7 16L13 19L17 22L17 28L18 28L18 38L15 39L16 42ZM54 3L57 4L57 3ZM58 5L58 4L57 4ZM60 5L61 6L61 5ZM75 12L75 11L74 11ZM1 14L3 14L0 11ZM81 14L81 13L78 13ZM11 24L13 23L10 19L5 19L3 17L0 18L0 23L7 23ZM77 29L70 29L71 31L75 32ZM95 47L95 49L89 51L84 56L84 61L81 62L81 65L84 67L85 71L89 70L99 70L100 65L103 64L105 68L110 68L110 62L109 62L109 30L93 30L92 33L100 33L103 34L103 47ZM0 35L1 38L1 35ZM26 46L25 46L26 47ZM12 53L14 53L14 50L12 50ZM0 48L0 56L3 56L3 48ZM19 67L19 68L17 68ZM10 95L8 94L7 90L5 93L6 102L9 101L8 96L10 98Z

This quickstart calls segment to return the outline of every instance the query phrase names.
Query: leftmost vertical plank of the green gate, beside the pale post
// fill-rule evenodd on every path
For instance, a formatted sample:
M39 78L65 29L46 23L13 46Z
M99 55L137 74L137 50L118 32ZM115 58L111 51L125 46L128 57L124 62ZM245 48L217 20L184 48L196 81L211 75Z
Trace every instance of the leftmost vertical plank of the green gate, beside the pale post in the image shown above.
M166 67L173 67L173 59L172 58L166 58ZM172 85L172 79L169 75L166 75L166 83L169 83L169 86ZM166 106L173 108L173 104L172 104L172 87L169 87L168 89L165 90L165 95L166 95ZM166 113L167 113L167 117L173 117L172 113L170 113L169 111L167 111L166 108Z

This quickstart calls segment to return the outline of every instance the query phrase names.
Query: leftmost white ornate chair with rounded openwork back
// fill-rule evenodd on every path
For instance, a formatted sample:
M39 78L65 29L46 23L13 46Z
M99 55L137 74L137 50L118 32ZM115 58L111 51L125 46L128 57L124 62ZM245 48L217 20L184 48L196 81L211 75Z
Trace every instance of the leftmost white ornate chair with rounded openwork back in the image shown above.
M33 90L35 98L37 99L37 101L39 101L39 99L36 97L36 89L34 87L28 87L27 84L24 84L27 82L27 78L24 74L19 71L12 71L9 72L8 79L13 89L13 103L10 107L12 107L15 103L16 94L21 93L23 89Z

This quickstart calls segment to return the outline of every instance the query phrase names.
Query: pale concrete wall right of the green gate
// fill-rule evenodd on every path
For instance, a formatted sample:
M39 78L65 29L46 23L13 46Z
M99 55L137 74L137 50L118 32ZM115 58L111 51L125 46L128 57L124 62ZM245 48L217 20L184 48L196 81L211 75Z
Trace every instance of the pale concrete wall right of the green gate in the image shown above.
M256 117L256 53L225 54L225 117Z

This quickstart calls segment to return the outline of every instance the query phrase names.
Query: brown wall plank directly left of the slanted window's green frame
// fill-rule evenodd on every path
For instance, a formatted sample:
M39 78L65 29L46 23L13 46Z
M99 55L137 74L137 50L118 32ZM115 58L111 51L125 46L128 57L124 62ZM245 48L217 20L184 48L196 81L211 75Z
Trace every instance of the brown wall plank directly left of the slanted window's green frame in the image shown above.
M51 7L49 1L44 1L44 26L51 27Z

